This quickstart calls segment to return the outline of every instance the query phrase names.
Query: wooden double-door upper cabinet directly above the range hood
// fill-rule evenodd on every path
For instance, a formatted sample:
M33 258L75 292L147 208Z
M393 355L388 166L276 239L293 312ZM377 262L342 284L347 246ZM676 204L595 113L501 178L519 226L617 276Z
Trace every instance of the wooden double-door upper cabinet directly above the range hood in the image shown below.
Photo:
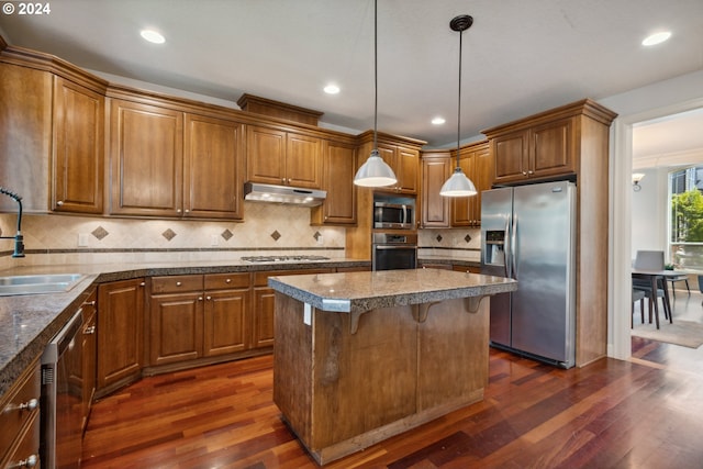
M278 129L247 127L247 180L320 189L322 141Z

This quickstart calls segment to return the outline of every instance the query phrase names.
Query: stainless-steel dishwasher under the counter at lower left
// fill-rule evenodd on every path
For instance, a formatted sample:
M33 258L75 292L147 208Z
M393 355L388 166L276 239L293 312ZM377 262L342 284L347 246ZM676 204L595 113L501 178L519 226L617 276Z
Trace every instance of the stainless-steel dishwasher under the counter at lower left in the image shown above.
M82 451L82 310L42 355L42 466L78 468Z

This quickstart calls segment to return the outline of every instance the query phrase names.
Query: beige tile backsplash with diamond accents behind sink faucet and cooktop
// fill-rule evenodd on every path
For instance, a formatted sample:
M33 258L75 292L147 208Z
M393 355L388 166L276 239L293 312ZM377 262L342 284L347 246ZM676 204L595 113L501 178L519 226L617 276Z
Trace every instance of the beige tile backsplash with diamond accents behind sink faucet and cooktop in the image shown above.
M243 252L314 250L344 257L343 227L311 226L310 209L244 202L245 222L136 220L24 214L26 257L13 259L2 239L0 268L22 265L237 259ZM13 236L16 217L0 214L2 236ZM5 246L7 244L7 246Z

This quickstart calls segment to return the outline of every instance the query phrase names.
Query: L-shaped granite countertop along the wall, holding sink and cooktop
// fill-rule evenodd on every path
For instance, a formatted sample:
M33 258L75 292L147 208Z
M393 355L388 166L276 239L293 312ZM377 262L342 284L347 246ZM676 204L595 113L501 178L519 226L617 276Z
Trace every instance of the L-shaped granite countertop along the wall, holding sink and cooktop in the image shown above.
M319 261L252 264L243 260L86 264L27 266L0 270L0 277L36 273L81 273L83 278L60 293L0 297L0 395L42 355L44 347L80 309L98 283L140 277L370 267L369 260L333 258Z

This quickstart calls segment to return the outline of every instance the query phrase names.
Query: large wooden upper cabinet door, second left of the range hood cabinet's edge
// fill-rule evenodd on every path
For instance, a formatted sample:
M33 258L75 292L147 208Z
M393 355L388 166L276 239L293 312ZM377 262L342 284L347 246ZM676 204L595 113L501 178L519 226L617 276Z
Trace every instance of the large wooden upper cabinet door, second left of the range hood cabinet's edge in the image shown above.
M243 132L236 122L186 115L186 216L242 219Z

